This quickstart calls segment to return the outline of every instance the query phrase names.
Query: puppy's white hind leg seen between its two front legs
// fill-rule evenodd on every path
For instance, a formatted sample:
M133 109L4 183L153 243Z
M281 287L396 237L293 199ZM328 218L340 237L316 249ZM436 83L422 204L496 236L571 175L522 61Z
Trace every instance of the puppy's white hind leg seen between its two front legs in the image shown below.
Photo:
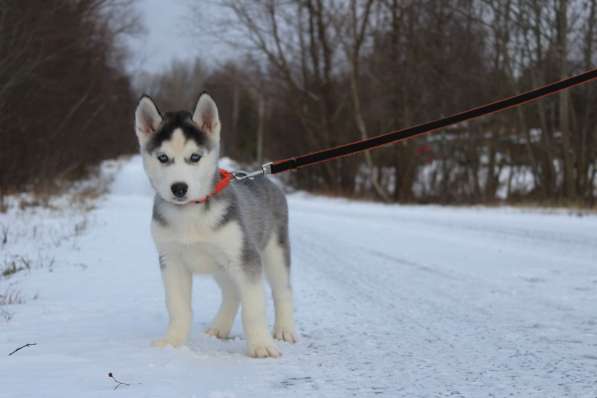
M240 298L236 285L228 275L223 272L217 272L214 274L214 279L222 292L222 304L220 304L218 314L205 333L219 339L225 339L230 334L230 329L232 329L234 318L238 312Z

